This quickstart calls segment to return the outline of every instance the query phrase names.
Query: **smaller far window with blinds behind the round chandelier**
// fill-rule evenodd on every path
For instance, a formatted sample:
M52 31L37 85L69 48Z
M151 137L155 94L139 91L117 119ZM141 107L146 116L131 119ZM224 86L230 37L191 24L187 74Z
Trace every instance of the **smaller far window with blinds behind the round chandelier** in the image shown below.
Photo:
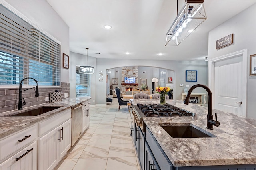
M79 66L76 66L76 97L91 96L91 75L79 73Z

